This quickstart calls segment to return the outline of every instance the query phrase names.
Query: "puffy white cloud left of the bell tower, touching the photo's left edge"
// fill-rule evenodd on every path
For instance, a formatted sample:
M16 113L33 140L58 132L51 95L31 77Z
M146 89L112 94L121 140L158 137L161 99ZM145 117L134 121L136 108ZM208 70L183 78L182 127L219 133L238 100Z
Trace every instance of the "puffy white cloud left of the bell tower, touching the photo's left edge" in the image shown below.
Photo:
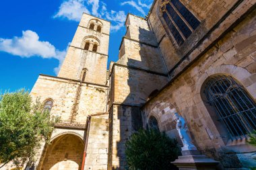
M66 54L66 50L58 50L50 42L40 41L38 34L31 30L23 31L22 37L15 36L12 39L0 38L0 50L23 58L30 58L32 56L56 58L59 60L60 65ZM55 73L56 71L58 71L57 68L55 68Z

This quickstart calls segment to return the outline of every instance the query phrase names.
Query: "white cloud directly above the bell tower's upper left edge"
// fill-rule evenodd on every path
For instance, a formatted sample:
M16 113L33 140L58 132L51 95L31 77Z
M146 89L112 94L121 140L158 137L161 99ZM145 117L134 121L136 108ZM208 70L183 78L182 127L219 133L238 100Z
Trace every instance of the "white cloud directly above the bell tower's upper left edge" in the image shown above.
M96 9L96 6L94 8ZM84 0L69 0L61 3L58 13L53 17L65 17L69 20L79 22L83 12L90 13L90 11L84 5Z

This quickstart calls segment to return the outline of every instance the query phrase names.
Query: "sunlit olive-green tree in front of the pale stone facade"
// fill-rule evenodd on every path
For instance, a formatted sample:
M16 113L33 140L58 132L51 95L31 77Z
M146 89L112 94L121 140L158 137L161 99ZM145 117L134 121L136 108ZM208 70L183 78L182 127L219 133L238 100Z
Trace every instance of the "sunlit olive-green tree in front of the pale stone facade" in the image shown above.
M42 105L32 103L28 91L0 95L0 163L13 161L17 167L32 164L42 140L48 140L54 122ZM1 167L0 167L1 169Z

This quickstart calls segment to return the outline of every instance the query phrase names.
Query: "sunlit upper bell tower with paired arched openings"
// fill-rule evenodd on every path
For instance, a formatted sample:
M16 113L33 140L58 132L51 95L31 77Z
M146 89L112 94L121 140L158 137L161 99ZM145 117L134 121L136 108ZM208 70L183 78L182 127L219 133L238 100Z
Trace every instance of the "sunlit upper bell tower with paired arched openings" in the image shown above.
M83 13L58 77L106 84L110 22Z

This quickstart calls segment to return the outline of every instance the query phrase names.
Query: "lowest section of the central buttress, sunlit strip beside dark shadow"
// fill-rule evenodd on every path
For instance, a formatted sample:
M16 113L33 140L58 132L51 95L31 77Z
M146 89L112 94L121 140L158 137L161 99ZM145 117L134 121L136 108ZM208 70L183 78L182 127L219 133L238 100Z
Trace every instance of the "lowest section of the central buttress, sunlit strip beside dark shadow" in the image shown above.
M109 113L108 170L125 169L125 142L142 128L141 114L137 107L112 105Z

